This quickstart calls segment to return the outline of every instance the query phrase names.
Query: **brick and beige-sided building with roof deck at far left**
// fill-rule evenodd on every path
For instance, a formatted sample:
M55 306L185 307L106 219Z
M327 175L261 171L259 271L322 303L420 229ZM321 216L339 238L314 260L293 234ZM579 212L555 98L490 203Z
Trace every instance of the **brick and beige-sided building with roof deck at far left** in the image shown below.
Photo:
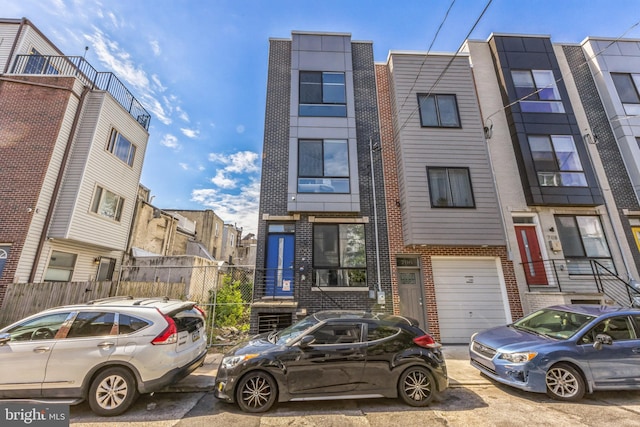
M115 75L0 20L0 302L10 283L111 280L150 115Z

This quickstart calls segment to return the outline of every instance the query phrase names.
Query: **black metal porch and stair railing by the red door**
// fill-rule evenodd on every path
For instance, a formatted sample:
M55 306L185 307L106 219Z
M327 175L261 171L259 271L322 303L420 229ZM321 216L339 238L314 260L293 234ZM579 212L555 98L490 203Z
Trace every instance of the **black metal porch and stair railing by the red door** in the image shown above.
M611 260L552 259L521 265L529 291L596 292L626 307L640 302L640 289L620 278ZM543 282L540 281L541 276L545 279Z

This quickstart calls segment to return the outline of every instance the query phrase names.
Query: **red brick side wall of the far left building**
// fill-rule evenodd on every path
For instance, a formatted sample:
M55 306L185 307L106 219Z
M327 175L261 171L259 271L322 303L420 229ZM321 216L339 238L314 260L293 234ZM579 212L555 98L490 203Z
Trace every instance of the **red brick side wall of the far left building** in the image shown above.
M0 277L0 304L7 285L14 280L71 96L66 89L71 89L74 81L50 76L12 79L25 83L0 81L0 244L11 245ZM46 215L40 208L39 214Z

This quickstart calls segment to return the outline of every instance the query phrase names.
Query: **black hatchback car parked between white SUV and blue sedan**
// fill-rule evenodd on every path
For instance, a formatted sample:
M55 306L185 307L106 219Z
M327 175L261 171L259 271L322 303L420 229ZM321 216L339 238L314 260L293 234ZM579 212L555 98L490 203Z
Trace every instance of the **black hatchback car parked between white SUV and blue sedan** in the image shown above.
M321 311L230 350L215 396L246 412L276 401L367 397L426 406L449 384L440 347L413 319Z

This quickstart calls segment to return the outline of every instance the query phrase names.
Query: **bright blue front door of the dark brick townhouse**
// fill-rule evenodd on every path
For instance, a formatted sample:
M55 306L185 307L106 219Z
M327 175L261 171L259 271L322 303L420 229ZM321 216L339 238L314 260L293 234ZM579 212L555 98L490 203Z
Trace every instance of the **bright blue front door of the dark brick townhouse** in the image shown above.
M269 235L265 296L293 296L293 245L293 234Z

